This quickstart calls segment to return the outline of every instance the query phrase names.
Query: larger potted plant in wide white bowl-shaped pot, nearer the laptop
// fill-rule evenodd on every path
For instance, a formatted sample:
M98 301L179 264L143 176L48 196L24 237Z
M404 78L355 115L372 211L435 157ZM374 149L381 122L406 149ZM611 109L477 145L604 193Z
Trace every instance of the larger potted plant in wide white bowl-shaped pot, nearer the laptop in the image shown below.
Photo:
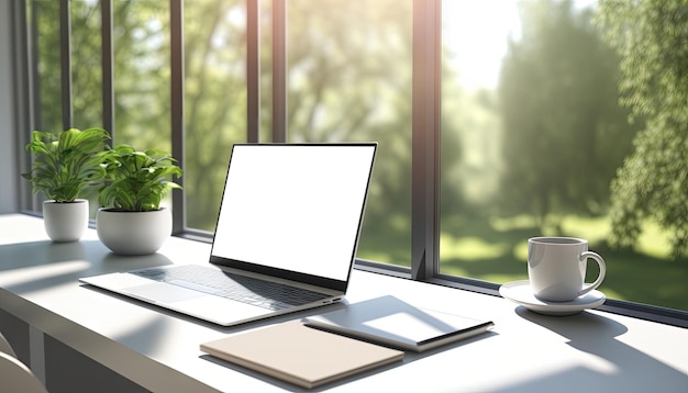
M181 188L170 180L182 173L175 162L165 151L127 145L114 147L108 157L96 229L114 254L153 254L171 234L171 213L159 204L167 191Z

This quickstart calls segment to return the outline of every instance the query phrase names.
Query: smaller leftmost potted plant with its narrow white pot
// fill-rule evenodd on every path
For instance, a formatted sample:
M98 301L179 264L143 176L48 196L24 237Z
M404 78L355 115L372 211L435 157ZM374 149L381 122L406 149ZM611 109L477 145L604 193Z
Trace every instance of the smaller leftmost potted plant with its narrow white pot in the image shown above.
M103 128L69 128L59 133L34 131L26 150L34 155L31 171L22 177L34 193L43 192L45 232L54 242L75 242L88 227L88 200L101 184L101 164L108 157L110 135Z

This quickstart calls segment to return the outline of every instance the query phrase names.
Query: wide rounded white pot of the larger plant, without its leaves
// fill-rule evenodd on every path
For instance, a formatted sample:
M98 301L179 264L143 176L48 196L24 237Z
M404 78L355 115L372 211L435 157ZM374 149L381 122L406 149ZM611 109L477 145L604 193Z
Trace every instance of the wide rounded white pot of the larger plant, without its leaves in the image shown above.
M99 209L96 229L100 242L114 254L153 254L171 234L171 213L165 207L149 212Z

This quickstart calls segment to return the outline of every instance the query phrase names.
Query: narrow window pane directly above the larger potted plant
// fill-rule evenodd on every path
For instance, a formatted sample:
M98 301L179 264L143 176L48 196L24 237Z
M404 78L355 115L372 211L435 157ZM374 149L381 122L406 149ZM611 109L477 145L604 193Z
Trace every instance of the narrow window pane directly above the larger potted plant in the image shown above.
M169 151L169 2L113 2L114 143Z

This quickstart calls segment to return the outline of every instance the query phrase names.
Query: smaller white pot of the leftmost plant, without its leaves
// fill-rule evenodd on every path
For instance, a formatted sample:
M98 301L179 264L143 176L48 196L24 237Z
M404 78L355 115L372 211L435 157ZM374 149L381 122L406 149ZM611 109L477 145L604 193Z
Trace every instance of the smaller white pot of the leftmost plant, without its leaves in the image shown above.
M76 242L88 227L88 200L43 202L43 224L53 242Z

